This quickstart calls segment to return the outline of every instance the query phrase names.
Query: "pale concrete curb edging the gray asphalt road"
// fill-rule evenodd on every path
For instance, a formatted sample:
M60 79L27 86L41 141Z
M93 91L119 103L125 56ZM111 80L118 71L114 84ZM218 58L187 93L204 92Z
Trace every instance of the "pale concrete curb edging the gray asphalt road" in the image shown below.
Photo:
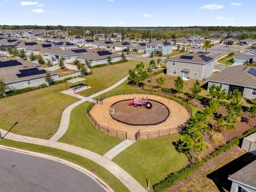
M51 161L55 161L55 162L58 162L58 163L62 163L62 164L65 164L77 171L80 171L84 174L86 174L88 177L90 177L91 179L93 179L95 182L97 182L104 190L106 190L107 192L114 192L114 190L109 187L107 185L106 182L104 182L103 180L101 180L97 175L95 175L94 173L92 173L91 171L89 170L86 170L84 169L84 167L82 166L79 166L75 163L71 163L69 161L66 161L64 159L61 159L59 157L54 157L54 156L51 156L51 155L46 155L46 154L41 154L41 153L36 153L36 152L33 152L33 151L28 151L28 150L23 150L23 149L17 149L17 148L13 148L13 147L8 147L8 146L3 146L3 145L0 145L0 149L5 149L5 150L10 150L10 151L14 151L14 152L17 152L17 153L21 153L21 154L26 154L26 155L31 155L31 156L36 156L36 157L41 157L41 158L45 158L45 159L49 159Z

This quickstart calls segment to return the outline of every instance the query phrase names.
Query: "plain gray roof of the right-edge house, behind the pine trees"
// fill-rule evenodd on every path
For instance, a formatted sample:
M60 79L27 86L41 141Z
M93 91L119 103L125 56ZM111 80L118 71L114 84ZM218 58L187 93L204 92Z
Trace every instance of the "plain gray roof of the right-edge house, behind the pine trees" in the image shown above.
M211 77L209 81L256 87L256 76L248 73L250 69L251 67L243 65L228 67L217 75Z

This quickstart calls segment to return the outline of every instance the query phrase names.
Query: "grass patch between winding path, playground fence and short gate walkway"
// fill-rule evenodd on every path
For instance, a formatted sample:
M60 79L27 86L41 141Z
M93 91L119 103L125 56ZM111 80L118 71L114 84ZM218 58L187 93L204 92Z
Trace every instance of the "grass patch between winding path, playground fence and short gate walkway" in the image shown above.
M96 129L86 114L89 105L90 102L84 102L71 111L68 130L59 141L103 155L123 139L112 137Z

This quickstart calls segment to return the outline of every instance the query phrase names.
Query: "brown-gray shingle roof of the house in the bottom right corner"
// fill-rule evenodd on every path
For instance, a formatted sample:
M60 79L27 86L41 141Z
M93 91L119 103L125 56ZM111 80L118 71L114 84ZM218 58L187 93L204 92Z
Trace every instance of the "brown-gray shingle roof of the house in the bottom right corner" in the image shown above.
M229 176L229 180L243 183L256 189L256 160Z

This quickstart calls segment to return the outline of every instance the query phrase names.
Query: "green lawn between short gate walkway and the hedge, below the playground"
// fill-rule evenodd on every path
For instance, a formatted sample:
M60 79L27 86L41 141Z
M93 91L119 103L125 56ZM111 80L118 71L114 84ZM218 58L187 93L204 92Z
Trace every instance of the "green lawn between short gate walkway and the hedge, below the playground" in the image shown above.
M186 155L178 153L172 145L172 141L179 138L181 135L173 134L137 141L118 154L113 161L146 187L146 179L150 179L153 184L186 166Z

